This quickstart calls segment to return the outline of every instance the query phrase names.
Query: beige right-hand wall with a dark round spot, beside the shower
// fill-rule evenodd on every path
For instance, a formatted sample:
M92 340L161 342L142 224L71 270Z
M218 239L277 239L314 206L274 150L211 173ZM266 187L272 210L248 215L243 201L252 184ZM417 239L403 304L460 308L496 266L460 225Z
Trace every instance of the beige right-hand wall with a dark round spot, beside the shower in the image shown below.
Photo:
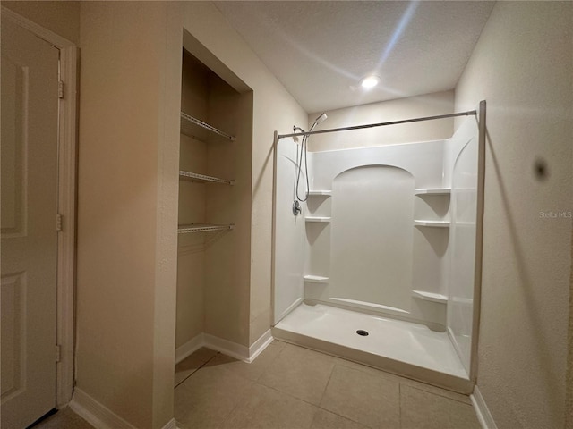
M564 422L573 4L499 2L456 89L487 101L477 385L500 429ZM547 177L535 176L535 160Z

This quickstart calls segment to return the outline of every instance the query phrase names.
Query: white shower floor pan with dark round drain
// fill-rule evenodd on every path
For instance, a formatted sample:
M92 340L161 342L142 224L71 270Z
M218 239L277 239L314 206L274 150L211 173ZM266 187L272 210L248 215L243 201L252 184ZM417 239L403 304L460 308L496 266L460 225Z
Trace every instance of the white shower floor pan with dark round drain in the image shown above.
M356 333L366 331L368 335ZM469 394L473 383L446 332L322 304L301 304L273 328L278 340Z

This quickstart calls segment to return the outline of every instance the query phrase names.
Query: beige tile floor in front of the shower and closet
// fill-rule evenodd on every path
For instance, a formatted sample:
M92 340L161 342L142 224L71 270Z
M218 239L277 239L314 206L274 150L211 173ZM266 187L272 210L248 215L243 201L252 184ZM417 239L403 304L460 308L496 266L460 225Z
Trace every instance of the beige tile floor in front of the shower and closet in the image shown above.
M175 367L182 429L479 429L468 397L273 341L252 364L210 349Z

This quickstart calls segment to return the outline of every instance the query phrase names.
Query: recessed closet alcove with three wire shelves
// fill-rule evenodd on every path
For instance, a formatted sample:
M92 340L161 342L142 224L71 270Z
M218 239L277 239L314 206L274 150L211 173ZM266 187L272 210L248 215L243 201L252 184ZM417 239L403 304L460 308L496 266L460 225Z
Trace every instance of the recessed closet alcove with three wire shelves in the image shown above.
M249 327L252 92L187 50L180 136L176 362L212 342L244 344Z

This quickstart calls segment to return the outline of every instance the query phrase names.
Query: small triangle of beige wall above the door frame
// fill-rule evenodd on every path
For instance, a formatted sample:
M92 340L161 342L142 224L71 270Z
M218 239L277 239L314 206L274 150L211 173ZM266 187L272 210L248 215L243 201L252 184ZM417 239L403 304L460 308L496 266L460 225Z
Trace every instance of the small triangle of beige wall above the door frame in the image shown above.
M80 44L80 2L0 2L3 6L36 22L45 29Z

